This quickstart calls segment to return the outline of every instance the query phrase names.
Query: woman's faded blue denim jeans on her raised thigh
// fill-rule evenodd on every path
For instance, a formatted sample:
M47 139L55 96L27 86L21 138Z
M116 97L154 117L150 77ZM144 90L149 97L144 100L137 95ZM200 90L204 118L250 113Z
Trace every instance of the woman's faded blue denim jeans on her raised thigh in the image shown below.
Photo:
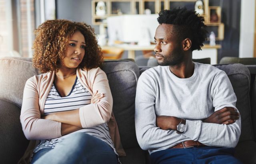
M117 164L114 150L104 141L86 133L74 133L55 148L34 154L31 164Z

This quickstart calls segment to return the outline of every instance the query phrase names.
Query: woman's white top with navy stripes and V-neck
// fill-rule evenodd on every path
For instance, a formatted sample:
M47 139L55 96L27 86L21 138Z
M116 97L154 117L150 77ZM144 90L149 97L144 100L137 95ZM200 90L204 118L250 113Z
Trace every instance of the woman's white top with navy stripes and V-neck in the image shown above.
M52 87L50 89L50 92L48 94L48 97L46 98L46 102L44 105L44 115L48 115L50 113L58 112L58 111L69 111L78 109L84 105L88 105L91 103L92 95L88 90L82 86L78 78L76 77L76 80L74 82L74 85L72 86L72 89L70 93L67 96L61 97L61 94L58 92L58 90L55 87L55 84L52 84ZM101 125L98 125L96 127L92 128L84 128L80 129L78 131L75 131L73 133L87 133L89 135L92 135L105 143L107 143L117 154L116 149L114 147L114 144L110 138L108 125L107 123L103 123ZM72 133L70 133L72 134ZM63 139L68 137L68 135L64 135L62 137L58 137L55 139L47 139L47 140L41 140L40 143L34 148L33 153L38 152L39 150L47 147L54 148L56 144L61 142ZM118 156L118 154L117 154Z

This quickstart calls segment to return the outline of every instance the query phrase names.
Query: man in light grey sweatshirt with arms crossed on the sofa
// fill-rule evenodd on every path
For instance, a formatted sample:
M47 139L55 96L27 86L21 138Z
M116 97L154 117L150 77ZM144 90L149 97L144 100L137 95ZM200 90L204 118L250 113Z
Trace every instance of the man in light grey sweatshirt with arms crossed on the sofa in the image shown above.
M241 133L236 96L226 73L192 62L207 31L192 10L159 13L154 48L160 66L140 76L135 125L152 163L240 163L234 147Z

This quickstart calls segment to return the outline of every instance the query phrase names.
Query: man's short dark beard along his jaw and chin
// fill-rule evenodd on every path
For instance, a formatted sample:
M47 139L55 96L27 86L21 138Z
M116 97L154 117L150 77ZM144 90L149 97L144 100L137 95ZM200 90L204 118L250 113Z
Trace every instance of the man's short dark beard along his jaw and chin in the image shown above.
M169 55L165 55L163 57L163 61L159 62L157 61L158 65L160 66L175 66L181 64L181 62L184 59L184 53L180 49L180 47L177 47L170 53Z

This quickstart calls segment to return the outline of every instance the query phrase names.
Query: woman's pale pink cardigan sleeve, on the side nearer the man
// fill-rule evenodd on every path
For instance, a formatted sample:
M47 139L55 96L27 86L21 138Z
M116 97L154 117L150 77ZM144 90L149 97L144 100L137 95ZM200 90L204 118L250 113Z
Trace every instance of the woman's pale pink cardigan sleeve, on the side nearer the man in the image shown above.
M113 99L108 78L103 70L96 68L88 71L87 81L93 93L104 93L100 102L80 107L79 116L83 128L94 127L108 122L112 113Z

